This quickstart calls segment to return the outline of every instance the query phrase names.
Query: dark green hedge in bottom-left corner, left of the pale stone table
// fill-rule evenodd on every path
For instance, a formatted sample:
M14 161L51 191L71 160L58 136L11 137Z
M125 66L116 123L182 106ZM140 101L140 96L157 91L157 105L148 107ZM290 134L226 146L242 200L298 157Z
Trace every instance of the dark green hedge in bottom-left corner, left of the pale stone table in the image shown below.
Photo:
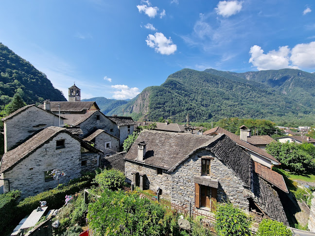
M16 202L21 192L18 190L0 194L0 233L16 216Z

